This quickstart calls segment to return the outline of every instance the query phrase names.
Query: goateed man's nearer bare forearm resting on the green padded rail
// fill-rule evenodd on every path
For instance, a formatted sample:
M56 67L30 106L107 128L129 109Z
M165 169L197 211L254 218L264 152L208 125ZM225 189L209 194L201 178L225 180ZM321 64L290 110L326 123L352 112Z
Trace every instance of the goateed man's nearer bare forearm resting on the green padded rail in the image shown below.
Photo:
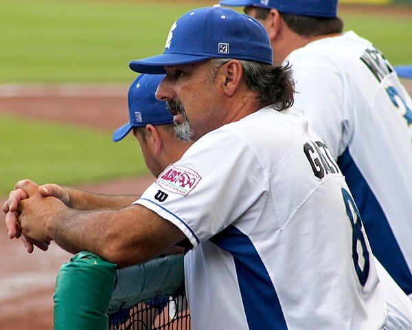
M51 206L45 212L42 217L49 219L50 238L73 254L90 251L126 267L160 254L183 252L172 248L185 239L183 232L144 206L85 212Z

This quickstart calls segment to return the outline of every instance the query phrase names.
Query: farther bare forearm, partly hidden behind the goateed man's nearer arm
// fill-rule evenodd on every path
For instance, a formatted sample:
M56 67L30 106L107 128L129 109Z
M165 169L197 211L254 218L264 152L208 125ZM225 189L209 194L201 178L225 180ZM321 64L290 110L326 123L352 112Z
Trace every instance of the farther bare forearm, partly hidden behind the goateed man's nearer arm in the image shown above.
M69 207L78 210L125 208L139 198L138 195L102 195L73 188L64 189L69 194Z

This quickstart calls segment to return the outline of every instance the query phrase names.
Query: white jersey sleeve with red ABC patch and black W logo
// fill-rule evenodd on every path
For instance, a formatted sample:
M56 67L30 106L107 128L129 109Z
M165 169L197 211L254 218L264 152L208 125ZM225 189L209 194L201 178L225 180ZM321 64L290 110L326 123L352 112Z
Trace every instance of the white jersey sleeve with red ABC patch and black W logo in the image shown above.
M263 177L241 137L219 129L168 166L135 203L174 223L196 248L246 212L265 186Z

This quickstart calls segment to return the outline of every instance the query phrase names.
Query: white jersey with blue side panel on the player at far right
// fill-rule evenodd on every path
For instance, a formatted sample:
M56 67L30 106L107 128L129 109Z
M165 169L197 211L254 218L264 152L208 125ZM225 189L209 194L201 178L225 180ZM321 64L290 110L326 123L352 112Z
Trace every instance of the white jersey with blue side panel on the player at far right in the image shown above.
M412 294L412 100L369 41L347 32L286 58L304 110L347 181L372 251Z

